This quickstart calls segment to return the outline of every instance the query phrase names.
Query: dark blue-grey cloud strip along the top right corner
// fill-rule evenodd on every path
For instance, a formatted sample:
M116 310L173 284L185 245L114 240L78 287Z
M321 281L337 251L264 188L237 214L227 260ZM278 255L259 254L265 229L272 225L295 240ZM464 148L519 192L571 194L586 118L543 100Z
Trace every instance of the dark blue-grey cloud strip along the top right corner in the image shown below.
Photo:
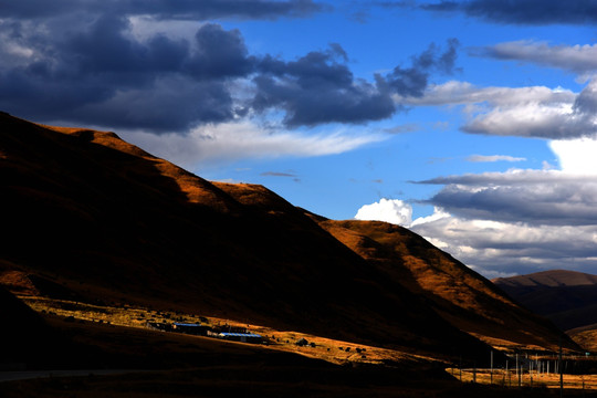
M420 6L436 12L463 12L496 23L584 24L597 22L595 0L470 0L440 1Z

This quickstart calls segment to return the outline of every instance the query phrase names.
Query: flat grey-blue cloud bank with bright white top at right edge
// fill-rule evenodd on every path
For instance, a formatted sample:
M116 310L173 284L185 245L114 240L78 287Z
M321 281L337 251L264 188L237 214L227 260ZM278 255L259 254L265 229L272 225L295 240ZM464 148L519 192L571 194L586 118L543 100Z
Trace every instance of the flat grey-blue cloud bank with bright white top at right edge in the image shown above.
M561 170L521 170L438 177L443 185L429 202L464 219L528 226L597 224L597 140L549 144Z

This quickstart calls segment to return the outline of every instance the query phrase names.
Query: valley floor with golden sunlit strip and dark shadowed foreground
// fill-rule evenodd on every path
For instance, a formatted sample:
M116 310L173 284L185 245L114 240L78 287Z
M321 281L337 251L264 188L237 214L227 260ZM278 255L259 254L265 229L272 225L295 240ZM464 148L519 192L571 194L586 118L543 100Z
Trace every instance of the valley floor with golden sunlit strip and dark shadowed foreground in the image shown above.
M464 370L460 383L453 370L447 371L444 364L430 358L294 332L244 325L272 343L251 345L144 327L149 320L197 322L198 315L39 297L25 297L25 302L44 314L53 328L70 336L78 349L88 349L83 355L88 360L81 363L80 369L100 365L102 371L128 370L116 375L85 370L78 377L54 373L52 377L4 381L0 383L3 398L558 396L547 380L535 381L532 388L509 388L494 376L495 383L489 386L484 385L485 374L478 373L473 384L472 374ZM296 346L301 337L314 342L315 347ZM66 357L70 354L64 353ZM597 376L586 377L585 390L569 380L566 397L597 396L589 389Z

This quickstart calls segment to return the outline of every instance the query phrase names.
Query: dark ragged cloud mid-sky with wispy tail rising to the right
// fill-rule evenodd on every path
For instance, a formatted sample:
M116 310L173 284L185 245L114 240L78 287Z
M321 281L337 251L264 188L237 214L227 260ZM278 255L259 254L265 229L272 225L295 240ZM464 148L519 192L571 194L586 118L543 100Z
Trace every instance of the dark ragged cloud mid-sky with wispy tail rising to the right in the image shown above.
M338 44L291 62L268 56L253 78L256 95L251 106L258 112L283 109L289 126L384 119L397 111L392 95L422 96L432 72L452 73L457 46L454 39L444 52L431 44L411 59L411 66L376 74L375 84L353 76Z

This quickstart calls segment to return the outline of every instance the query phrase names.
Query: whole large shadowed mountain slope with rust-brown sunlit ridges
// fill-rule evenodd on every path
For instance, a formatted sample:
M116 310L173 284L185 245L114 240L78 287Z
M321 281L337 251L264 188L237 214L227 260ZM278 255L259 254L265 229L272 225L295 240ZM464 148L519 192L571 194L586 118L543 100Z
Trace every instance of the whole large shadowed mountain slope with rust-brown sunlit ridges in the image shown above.
M251 322L437 358L563 336L421 237L210 182L114 133L0 114L0 283L14 294ZM578 348L564 336L565 346Z

